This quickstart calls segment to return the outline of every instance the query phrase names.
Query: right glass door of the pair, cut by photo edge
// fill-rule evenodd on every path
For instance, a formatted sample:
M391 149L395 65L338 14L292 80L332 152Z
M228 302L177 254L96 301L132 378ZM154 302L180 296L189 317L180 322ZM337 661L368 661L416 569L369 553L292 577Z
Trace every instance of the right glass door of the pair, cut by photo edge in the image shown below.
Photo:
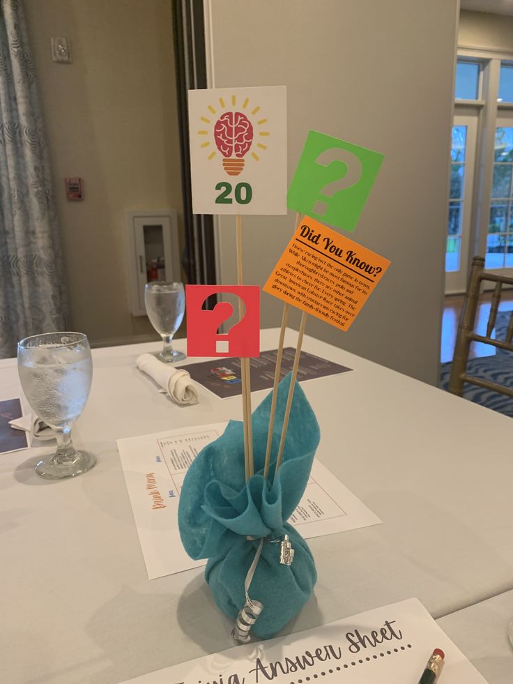
M491 202L484 268L513 268L513 112L500 110L493 149Z

